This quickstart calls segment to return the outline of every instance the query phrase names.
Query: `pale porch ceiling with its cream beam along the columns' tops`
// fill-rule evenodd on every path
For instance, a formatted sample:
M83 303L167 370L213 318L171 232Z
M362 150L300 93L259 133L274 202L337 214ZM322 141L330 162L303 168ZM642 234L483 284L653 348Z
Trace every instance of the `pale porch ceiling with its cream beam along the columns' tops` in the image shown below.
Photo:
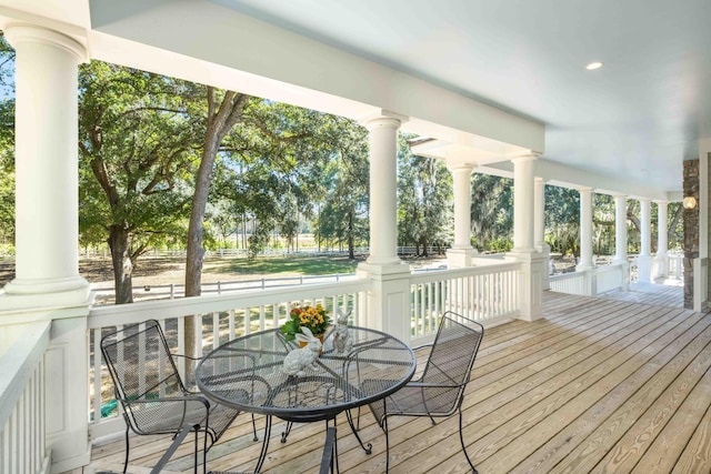
M0 0L18 12L83 36L92 58L356 119L392 111L440 140L432 155L542 152L537 174L611 192L679 191L711 138L707 0Z

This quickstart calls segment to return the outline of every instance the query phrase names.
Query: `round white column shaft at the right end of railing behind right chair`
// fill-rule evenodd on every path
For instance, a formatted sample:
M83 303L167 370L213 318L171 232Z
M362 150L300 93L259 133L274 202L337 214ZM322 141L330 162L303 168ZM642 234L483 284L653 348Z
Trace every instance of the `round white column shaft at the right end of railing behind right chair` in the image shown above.
M513 250L535 252L533 246L533 161L534 154L513 160Z

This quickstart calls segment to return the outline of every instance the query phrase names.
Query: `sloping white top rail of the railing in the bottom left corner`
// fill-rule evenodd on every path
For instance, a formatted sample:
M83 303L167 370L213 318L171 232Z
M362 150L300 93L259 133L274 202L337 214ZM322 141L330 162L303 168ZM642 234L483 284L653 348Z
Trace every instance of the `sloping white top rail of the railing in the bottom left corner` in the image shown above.
M49 347L51 321L24 326L20 336L0 355L0 426L4 426L11 416L33 373L32 369Z

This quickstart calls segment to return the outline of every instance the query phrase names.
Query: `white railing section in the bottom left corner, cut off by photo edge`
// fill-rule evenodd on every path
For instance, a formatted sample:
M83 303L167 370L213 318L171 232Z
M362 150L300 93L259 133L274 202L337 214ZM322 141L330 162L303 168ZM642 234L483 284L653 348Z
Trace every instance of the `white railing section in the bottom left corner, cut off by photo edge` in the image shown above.
M27 324L0 355L2 474L43 474L50 470L44 440L44 353L50 327L51 322Z

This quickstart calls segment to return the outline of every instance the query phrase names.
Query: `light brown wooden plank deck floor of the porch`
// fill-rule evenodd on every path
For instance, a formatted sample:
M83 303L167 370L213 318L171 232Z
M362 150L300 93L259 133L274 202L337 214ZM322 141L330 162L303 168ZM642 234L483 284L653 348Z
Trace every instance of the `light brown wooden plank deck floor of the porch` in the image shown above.
M711 472L711 315L545 292L543 320L488 329L464 400L464 440L482 474ZM367 413L357 445L339 418L342 473L382 473L384 436ZM258 418L261 425L262 420ZM391 470L465 473L457 417L393 418ZM267 473L318 471L323 425L274 423ZM250 471L260 443L241 414L209 453L216 471ZM169 440L132 438L129 472L148 473ZM191 472L187 443L166 472ZM92 472L120 472L121 440L94 446Z

